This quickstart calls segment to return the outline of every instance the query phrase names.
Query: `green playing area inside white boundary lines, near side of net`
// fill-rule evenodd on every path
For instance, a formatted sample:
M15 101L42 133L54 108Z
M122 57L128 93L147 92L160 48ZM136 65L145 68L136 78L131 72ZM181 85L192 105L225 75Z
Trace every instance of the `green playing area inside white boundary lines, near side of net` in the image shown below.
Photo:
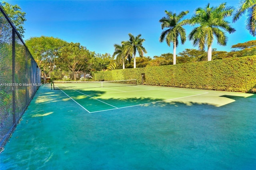
M207 93L142 85L130 86L122 84L119 86L115 83L114 85L112 83L106 87L98 88L100 86L95 83L60 83L57 87L62 89L62 92L67 97L89 113L168 102Z

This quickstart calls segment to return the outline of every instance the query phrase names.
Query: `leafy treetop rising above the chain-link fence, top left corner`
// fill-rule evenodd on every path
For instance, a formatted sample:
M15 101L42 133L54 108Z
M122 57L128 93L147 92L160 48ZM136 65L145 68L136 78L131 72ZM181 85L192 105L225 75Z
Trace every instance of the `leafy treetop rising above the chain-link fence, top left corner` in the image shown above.
M11 5L7 2L0 2L0 6L3 8L10 21L14 24L20 36L24 37L23 34L25 33L25 29L23 25L26 21L26 13L22 12L22 9L18 5ZM1 32L2 30L0 30L0 35Z

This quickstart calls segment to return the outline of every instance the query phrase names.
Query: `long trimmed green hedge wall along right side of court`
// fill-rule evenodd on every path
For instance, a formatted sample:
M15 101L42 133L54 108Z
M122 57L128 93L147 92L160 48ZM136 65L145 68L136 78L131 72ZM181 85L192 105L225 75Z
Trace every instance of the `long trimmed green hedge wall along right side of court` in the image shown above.
M94 79L137 79L138 84L141 84L142 73L145 73L145 85L255 92L256 55L197 63L97 71L94 73Z

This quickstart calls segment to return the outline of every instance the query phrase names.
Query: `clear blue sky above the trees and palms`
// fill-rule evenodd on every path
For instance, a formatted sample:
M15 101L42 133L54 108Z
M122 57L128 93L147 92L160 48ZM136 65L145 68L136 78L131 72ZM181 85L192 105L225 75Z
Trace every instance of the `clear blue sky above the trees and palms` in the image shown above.
M165 16L164 11L179 13L189 10L184 17L190 18L196 8L218 6L226 2L227 6L238 7L239 0L165 0L165 1L125 1L125 0L7 0L8 3L18 4L23 12L26 12L24 28L24 40L30 37L52 36L67 42L79 42L90 51L96 53L114 52L114 44L128 40L128 33L137 36L142 34L145 39L144 47L148 51L145 56L154 57L163 53L173 53L166 42L160 43L162 32L159 20ZM216 40L212 48L218 51L230 51L231 46L237 43L255 40L245 29L246 16L238 22L232 23L232 18L227 18L236 29L228 36L226 46L218 45ZM192 26L184 26L186 35L192 30ZM179 40L180 41L180 40ZM186 48L194 47L188 39L184 45L177 47L177 54ZM205 49L207 50L207 49Z

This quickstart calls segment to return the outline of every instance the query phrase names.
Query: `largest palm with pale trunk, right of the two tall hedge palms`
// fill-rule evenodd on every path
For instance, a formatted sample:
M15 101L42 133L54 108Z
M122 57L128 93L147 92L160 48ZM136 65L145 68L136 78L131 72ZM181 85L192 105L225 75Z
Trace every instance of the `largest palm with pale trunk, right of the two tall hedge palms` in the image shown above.
M212 42L214 36L219 45L226 45L228 37L224 31L233 33L236 30L230 26L230 23L224 20L231 16L234 11L233 7L226 7L226 3L222 3L217 7L210 7L208 3L206 7L197 8L196 13L190 19L191 25L199 24L189 34L189 40L193 40L194 46L199 45L201 50L207 45L208 61L212 60ZM224 30L224 31L223 31Z

